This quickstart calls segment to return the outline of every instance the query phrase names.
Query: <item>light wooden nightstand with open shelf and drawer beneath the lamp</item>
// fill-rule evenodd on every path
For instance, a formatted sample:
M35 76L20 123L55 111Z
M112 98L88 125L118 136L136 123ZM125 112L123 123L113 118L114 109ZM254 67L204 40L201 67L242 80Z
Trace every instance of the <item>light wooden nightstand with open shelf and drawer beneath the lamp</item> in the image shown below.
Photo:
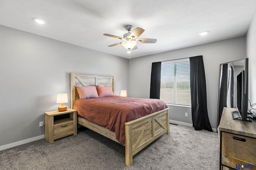
M49 143L68 135L77 135L76 110L44 112L45 139Z

